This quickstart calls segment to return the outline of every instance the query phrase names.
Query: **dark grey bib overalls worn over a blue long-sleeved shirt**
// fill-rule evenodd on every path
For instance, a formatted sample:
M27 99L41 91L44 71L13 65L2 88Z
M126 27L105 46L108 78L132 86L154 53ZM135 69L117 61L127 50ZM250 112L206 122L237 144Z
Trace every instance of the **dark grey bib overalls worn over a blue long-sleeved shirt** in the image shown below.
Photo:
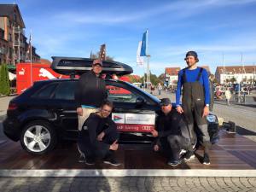
M186 69L186 68L185 68ZM194 129L194 123L201 131L201 144L204 147L211 145L208 134L207 117L202 118L203 109L205 107L205 91L203 85L200 83L200 78L203 68L200 68L195 82L187 82L186 70L183 69L183 112L189 124L190 136Z

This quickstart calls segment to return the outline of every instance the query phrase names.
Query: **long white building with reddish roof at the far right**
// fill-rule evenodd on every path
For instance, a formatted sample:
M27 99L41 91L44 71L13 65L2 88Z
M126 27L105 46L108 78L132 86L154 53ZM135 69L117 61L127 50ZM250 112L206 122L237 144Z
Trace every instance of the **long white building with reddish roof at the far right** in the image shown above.
M219 84L255 84L255 66L217 67L215 78Z

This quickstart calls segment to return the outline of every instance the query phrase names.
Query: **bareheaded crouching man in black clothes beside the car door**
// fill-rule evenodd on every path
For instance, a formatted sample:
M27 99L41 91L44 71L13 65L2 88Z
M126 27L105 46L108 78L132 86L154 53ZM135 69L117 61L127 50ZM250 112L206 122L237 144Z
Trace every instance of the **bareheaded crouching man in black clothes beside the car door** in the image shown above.
M84 156L79 162L85 161L86 165L94 165L96 158L112 166L120 164L114 159L113 153L119 148L119 133L113 120L109 117L113 103L105 101L100 111L90 113L85 120L82 130L79 131L79 152Z

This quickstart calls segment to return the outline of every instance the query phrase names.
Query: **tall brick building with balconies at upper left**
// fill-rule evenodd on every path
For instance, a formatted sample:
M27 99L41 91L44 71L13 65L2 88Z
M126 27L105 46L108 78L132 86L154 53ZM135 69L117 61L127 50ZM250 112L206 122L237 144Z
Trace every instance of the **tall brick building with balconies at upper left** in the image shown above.
M0 64L14 65L21 61L30 61L30 44L26 42L25 23L16 4L0 4ZM32 47L32 61L40 56Z

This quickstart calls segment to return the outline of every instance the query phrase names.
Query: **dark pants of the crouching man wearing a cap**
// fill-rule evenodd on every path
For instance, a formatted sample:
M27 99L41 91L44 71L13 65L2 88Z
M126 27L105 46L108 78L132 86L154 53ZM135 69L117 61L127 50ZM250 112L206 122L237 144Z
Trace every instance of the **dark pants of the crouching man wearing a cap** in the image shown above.
M178 160L182 149L189 150L189 141L183 136L160 137L160 152L169 160Z

